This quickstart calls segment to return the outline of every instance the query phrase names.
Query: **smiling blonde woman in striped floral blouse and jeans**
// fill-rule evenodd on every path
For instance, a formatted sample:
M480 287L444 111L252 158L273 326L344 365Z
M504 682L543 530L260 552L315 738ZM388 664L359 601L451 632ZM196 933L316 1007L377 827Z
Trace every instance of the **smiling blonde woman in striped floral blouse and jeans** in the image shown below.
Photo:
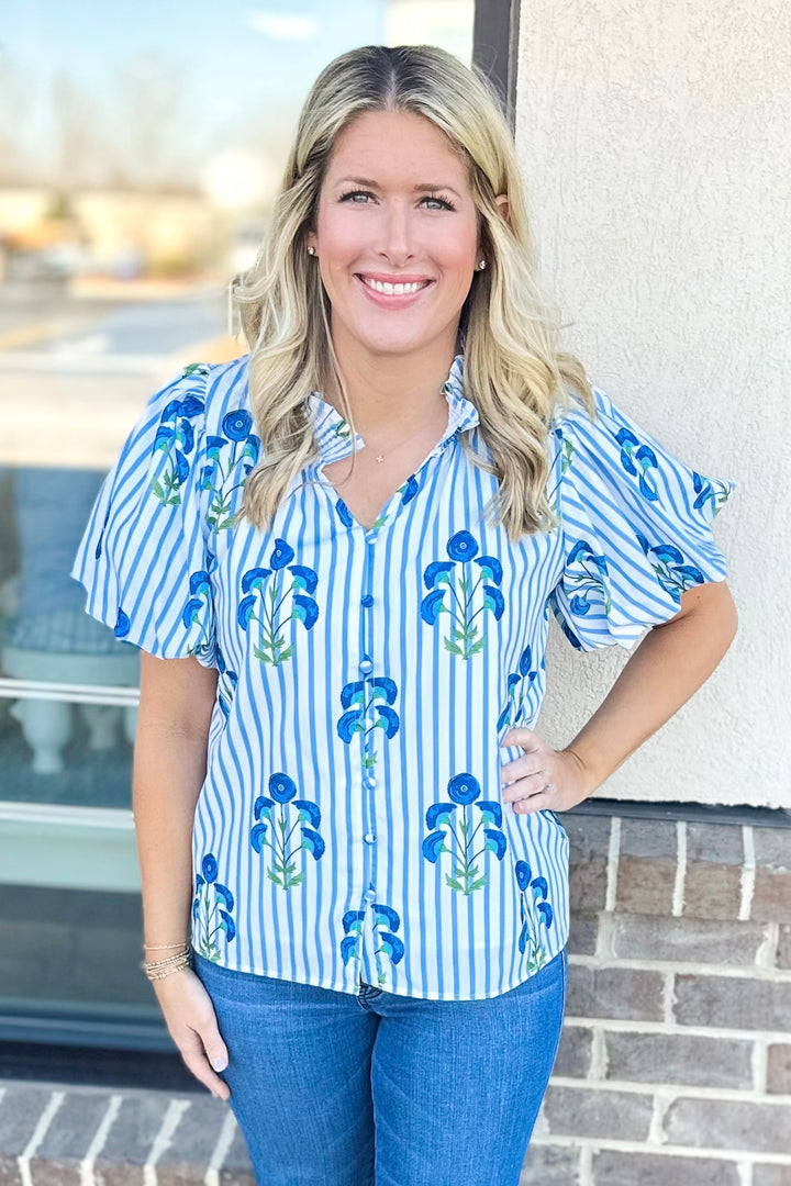
M142 648L146 969L259 1181L516 1184L556 812L726 651L731 486L559 352L508 128L440 50L324 70L238 300L250 353L153 396L74 569ZM563 750L550 606L583 650L653 627Z

